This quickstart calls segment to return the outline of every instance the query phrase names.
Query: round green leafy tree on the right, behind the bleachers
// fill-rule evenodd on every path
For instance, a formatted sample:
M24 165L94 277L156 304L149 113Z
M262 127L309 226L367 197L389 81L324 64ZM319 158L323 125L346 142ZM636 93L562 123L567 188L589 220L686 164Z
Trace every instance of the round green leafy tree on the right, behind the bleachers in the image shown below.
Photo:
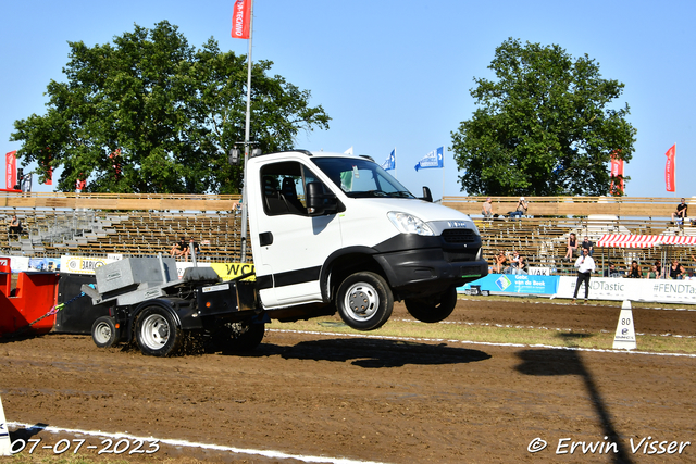
M609 104L623 91L604 79L586 54L573 60L559 46L520 43L496 49L475 78L478 109L452 131L462 190L470 195L607 195L611 153L629 161L636 130L629 105ZM625 179L629 179L625 177Z

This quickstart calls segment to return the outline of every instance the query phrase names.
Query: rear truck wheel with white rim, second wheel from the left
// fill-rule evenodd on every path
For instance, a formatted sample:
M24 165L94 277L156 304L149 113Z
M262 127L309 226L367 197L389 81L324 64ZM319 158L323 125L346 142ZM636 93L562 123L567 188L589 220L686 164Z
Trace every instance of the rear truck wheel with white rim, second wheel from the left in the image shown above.
M136 340L142 354L169 356L182 343L182 330L172 314L157 306L142 310L136 324Z

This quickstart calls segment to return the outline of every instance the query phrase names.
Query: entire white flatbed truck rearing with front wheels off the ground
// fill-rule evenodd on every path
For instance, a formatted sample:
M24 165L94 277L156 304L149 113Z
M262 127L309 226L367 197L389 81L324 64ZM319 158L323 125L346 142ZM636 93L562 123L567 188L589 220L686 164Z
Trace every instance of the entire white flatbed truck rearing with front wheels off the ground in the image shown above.
M200 330L251 349L270 319L336 311L353 329L373 330L389 318L395 300L417 319L435 323L451 314L457 287L488 273L469 216L433 203L427 188L425 198L414 197L369 158L260 154L248 159L246 178L256 284L221 284L203 271L167 281L160 264L159 283L130 280L105 294L98 276L96 289L83 286L96 305L112 302L92 326L98 346L135 338L144 353L170 355L182 330ZM119 266L104 266L101 281Z

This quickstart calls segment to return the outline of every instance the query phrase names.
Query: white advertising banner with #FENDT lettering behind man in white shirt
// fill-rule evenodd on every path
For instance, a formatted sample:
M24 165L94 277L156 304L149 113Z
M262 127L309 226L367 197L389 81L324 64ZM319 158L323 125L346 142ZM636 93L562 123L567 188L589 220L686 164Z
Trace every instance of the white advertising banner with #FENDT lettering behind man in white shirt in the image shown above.
M576 277L560 277L555 298L573 298L576 281ZM585 298L584 285L577 298ZM589 299L696 304L696 280L592 277Z

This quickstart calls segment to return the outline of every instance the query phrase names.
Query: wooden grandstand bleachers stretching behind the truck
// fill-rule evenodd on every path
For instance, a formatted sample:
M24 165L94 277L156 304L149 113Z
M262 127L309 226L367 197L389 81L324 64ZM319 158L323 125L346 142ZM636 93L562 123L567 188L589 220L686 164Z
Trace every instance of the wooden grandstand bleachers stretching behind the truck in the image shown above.
M9 216L16 213L24 222L21 240L0 234L0 251L37 256L85 254L104 256L154 255L167 253L172 243L184 236L202 244L210 261L235 261L240 253L240 215L234 210L239 196L215 195L117 195L117 193L5 193L0 209ZM492 197L494 212L505 214L517 205L518 197ZM497 250L517 250L531 266L572 273L572 262L562 260L568 235L579 240L588 236L593 242L604 234L696 235L696 227L670 225L675 198L636 197L526 197L527 215L519 221L483 220L484 197L445 197L443 204L472 216L482 235L484 256L492 262ZM688 203L688 201L687 201ZM696 205L693 206L696 216ZM88 224L74 228L70 236L36 242L36 237L55 230L58 224L90 215ZM90 223L91 221L91 223ZM32 242L34 240L34 242ZM667 251L667 254L666 254ZM696 250L598 249L598 265L614 262L621 266L635 259L642 264L656 259L678 258L691 263Z

